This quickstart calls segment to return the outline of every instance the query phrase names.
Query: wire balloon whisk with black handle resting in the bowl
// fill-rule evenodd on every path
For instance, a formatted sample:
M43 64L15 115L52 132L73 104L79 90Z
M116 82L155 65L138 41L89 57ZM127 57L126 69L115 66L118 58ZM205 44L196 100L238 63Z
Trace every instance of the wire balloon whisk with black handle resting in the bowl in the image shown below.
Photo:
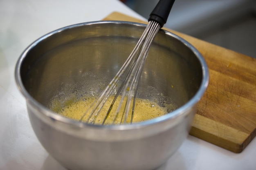
M108 117L110 117L110 113L115 102L117 101L118 96L121 97L121 99L117 109L114 111L115 113L111 113L112 123L110 124L116 124L115 122L117 115L120 113L122 116L118 124L126 124L127 122L132 124L137 86L142 68L146 61L148 51L155 38L155 35L166 23L174 1L175 0L159 0L153 11L150 13L148 25L146 26L144 33L141 35L141 38L135 45L135 48L132 50L123 66L121 66L105 90L102 91L99 97L97 97L97 99L92 103L90 108L83 114L80 121L83 121L85 115L87 115L85 122L88 124L94 124L110 95L114 95L112 103L102 121L102 125L105 124ZM122 104L125 104L123 109L121 109ZM132 109L130 121L127 121L130 109Z

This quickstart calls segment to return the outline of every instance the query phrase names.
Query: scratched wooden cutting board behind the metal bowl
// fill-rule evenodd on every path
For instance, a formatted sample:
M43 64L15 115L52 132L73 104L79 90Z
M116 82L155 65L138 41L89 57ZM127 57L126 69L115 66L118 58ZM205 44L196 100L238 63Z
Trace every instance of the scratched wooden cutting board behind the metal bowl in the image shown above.
M104 20L147 24L117 12ZM256 136L256 59L166 30L195 46L209 67L209 86L198 104L190 134L232 152L242 152Z

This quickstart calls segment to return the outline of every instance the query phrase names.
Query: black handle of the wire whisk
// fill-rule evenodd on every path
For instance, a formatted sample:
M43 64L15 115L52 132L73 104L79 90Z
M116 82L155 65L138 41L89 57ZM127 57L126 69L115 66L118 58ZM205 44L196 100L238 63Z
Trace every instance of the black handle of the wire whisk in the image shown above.
M163 27L167 21L171 8L173 7L174 1L175 0L159 0L153 11L150 13L148 21L156 21Z

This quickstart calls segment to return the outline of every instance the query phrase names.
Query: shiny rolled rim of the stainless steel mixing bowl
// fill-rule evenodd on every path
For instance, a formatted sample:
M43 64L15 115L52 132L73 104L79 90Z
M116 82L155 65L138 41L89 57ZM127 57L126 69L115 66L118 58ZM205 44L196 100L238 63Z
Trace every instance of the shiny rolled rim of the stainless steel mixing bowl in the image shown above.
M27 56L27 53L29 53L29 51L31 49L34 48L34 46L36 46L38 43L40 43L41 41L49 38L50 36L61 32L61 31L65 31L67 29L73 29L73 28L77 28L80 26L86 26L86 25L92 25L92 24L126 24L129 26L143 26L146 27L146 24L141 24L141 23L137 23L137 22L127 22L127 21L93 21L93 22L83 22L83 23L79 23L79 24L73 24L70 26L65 26L62 27L60 29L56 29L55 31L51 31L43 36L41 36L40 38L38 38L37 40L35 40L34 42L32 42L20 55L16 67L15 67L15 79L16 79L16 84L18 86L19 91L22 93L22 95L24 95L24 97L26 98L26 102L32 102L32 104L34 104L37 108L41 108L43 110L45 110L44 115L46 115L47 117L50 117L51 119L55 119L56 121L61 121L62 123L66 123L66 124L72 124L73 126L78 126L78 127L97 127L97 128L107 128L109 130L129 130L129 129L134 129L134 128L138 128L141 126L150 126L152 124L157 124L158 122L161 121L167 121L169 119L174 119L175 117L178 117L179 115L182 115L183 113L185 113L185 111L187 109L189 109L191 106L196 105L199 100L202 98L202 95L204 94L204 92L206 91L206 88L208 86L209 83L209 70L207 67L207 63L205 62L204 58L202 57L202 55L200 54L200 52L195 49L194 46L192 46L189 42L187 42L186 40L184 40L183 38L181 38L178 35L175 35L174 33L171 33L169 31L163 30L161 29L160 31L164 32L165 34L167 34L168 36L171 36L177 40L179 40L180 42L182 42L182 44L184 44L185 46L187 46L194 54L195 56L198 58L200 65L202 66L202 82L200 84L200 87L198 89L198 91L195 93L195 95L188 101L186 102L186 104L180 106L179 108L177 108L176 110L174 110L171 114L166 114L163 115L161 117L156 117L154 119L150 119L147 121L143 121L143 122L138 122L135 124L124 124L124 125L109 125L109 126L102 126L102 125L92 125L92 124L86 124L84 122L79 122L76 120L72 120L66 117L63 117L61 115L56 114L55 112L53 112L52 110L50 110L49 108L43 106L43 104L40 104L39 102L36 101L36 99L34 99L25 89L25 87L23 86L22 83L22 79L21 79L21 75L20 75L20 69L21 66L25 60L25 57ZM43 114L42 113L42 114Z

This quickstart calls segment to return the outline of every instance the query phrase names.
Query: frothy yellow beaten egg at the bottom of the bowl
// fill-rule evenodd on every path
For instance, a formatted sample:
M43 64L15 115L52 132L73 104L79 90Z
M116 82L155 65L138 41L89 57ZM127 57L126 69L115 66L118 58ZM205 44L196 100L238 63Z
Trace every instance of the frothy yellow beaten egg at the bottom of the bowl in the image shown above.
M123 113L124 113L126 98L124 102L122 102L119 113L117 113L116 115L116 110L121 100L121 96L117 97L115 104L112 106L112 110L110 114L108 115L106 121L104 122L104 125L120 124L120 123L124 124L125 114L123 116ZM106 103L103 105L103 108L101 108L100 112L97 115L95 114L91 115L91 112L92 112L91 106L95 100L94 97L88 97L87 99L81 99L78 102L73 102L68 106L62 108L58 112L58 114L68 117L70 119L75 119L79 121L84 115L81 121L89 122L89 123L93 122L94 124L103 124L103 121L107 115L108 109L110 108L110 105L113 99L114 99L114 96L110 96L106 101ZM133 99L131 102L130 110L126 117L126 124L131 123L132 103L133 103ZM148 99L136 98L134 114L132 117L132 123L145 121L145 120L149 120L155 117L165 115L166 113L168 113L167 108L169 107L161 107L156 102L151 102ZM115 118L115 115L116 115L116 118Z

